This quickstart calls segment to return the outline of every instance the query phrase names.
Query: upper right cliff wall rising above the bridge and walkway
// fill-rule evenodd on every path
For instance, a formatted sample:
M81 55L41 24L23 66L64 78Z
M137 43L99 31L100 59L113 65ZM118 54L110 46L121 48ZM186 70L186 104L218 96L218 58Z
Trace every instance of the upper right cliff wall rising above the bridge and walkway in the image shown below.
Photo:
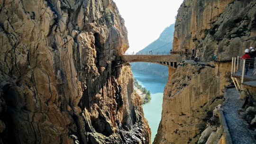
M203 61L242 55L256 47L255 0L184 0L178 11L173 51L194 49Z

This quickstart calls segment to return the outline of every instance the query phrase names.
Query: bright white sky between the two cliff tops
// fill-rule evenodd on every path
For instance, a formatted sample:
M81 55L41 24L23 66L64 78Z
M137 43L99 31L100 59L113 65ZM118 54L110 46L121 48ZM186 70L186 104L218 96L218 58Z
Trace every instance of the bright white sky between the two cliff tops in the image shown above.
M113 0L128 30L128 53L155 41L165 27L175 23L183 0Z

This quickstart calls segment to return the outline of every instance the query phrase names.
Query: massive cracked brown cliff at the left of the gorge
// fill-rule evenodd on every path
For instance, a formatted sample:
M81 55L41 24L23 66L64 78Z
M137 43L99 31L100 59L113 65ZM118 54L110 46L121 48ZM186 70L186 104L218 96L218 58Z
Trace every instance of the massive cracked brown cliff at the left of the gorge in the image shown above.
M0 0L1 143L148 144L112 0Z

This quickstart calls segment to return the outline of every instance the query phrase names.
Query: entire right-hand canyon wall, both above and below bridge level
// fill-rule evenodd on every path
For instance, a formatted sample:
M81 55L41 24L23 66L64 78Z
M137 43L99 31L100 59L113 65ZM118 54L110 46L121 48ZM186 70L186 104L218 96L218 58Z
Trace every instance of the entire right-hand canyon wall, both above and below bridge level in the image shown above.
M231 63L212 63L242 55L256 46L255 0L184 0L175 23L174 54L188 52L206 63L181 63L169 70L162 119L153 144L194 144L223 102ZM187 49L187 50L186 50Z

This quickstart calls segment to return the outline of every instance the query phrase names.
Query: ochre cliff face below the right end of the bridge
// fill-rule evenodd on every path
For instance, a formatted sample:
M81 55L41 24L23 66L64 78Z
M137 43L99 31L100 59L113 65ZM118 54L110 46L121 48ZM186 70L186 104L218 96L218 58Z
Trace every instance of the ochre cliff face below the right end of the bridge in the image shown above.
M195 144L212 110L223 102L229 63L180 64L169 75L153 144Z

